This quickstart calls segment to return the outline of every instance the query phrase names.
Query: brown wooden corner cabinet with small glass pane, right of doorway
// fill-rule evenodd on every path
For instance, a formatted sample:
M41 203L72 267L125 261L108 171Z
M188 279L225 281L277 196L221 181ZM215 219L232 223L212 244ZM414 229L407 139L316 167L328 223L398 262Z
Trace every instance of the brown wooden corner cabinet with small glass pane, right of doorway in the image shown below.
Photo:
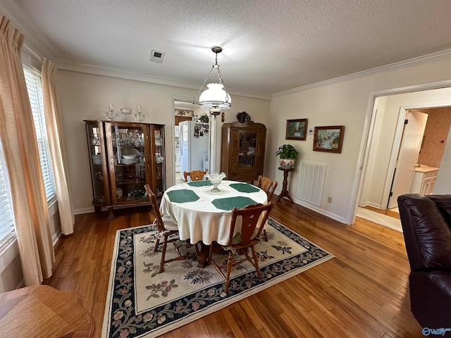
M261 123L225 123L221 139L221 171L228 180L251 182L263 175L266 127Z

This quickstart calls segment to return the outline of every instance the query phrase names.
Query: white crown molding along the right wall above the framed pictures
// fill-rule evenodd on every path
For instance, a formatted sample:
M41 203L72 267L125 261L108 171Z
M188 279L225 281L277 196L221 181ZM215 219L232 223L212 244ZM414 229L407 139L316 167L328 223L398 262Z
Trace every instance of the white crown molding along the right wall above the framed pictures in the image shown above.
M419 56L417 58L409 58L409 60L404 60L404 61L400 61L400 62L396 62L396 63L390 63L389 65L381 65L381 67L371 68L369 70L363 70L362 72L352 73L350 75L335 77L334 79L330 79L330 80L307 84L302 87L297 87L297 88L285 90L283 92L274 93L272 96L275 97L275 96L284 96L284 95L288 95L288 94L295 94L297 92L304 92L305 90L308 90L308 89L312 89L312 88L316 88L316 87L323 87L328 84L334 84L334 83L338 83L338 82L352 80L357 77L364 77L364 76L373 75L376 73L388 72L390 70L409 68L409 67L413 67L415 65L421 65L421 64L430 63L433 61L439 61L439 60L443 60L446 58L451 58L451 49L445 49L445 51L438 51L436 53L428 54L425 56Z

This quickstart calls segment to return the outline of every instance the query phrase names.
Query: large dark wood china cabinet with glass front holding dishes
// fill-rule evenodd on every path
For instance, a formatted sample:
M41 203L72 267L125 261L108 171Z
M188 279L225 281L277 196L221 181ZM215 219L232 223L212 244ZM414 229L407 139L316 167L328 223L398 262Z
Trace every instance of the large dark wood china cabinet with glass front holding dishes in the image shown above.
M85 120L96 212L149 204L145 184L157 197L166 189L164 126Z

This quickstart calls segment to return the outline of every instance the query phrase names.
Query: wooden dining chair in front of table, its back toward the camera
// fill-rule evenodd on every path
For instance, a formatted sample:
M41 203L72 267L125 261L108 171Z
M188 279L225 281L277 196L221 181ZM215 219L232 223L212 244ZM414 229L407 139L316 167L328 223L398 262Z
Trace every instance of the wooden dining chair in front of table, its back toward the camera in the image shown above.
M261 279L261 271L259 268L259 258L257 257L257 253L255 252L255 244L259 244L260 242L260 234L263 230L263 226L268 220L269 213L273 208L273 202L269 202L268 204L255 204L251 206L245 206L245 208L237 209L233 208L232 210L232 220L230 223L230 234L228 238L228 244L220 246L217 243L212 243L210 246L209 252L209 261L213 263L214 267L218 271L218 273L223 276L225 282L225 291L228 292L228 287L230 284L230 272L232 270L233 265L240 264L244 261L249 261L254 265L255 270L257 271L257 277ZM262 215L264 214L264 215ZM262 218L260 219L260 216ZM235 232L235 226L237 222L237 218L242 218L242 227L241 232L237 233L233 236ZM252 251L252 257L249 256L249 248ZM227 263L223 265L218 265L216 261L212 258L213 253L218 249L224 249L228 251L228 259ZM240 256L244 255L244 258L239 258L237 260L233 259L233 253L238 253ZM222 260L221 256L221 260ZM226 274L223 273L223 269L226 268Z

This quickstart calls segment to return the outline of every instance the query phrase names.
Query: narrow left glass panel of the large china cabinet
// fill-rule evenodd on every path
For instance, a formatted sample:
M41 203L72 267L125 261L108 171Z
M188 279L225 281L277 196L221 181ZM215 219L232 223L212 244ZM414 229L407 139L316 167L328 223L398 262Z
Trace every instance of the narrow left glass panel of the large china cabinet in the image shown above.
M101 122L86 123L89 163L91 168L94 203L109 204L108 170L105 156L105 140Z

